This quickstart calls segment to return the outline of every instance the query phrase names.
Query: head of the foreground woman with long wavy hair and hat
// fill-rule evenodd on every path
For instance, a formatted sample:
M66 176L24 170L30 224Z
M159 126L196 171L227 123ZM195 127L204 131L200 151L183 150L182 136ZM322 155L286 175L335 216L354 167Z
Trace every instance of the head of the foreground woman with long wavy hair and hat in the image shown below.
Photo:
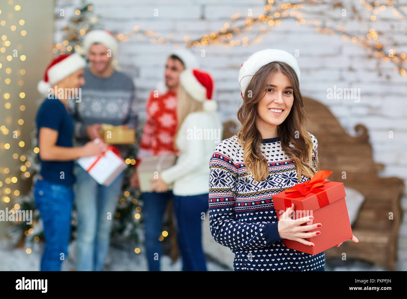
M260 65L251 75L251 64L258 63L267 53L277 61ZM239 76L245 103L237 113L242 124L238 135L239 143L245 148L245 163L257 181L266 179L268 168L265 157L260 155L260 141L279 136L282 149L295 162L298 180L302 174L312 177L312 168L306 166L311 161L312 142L305 129L300 70L295 58L282 50L259 51L251 58L243 63ZM249 82L248 78L251 78ZM280 113L276 112L279 110ZM289 146L289 141L295 147Z

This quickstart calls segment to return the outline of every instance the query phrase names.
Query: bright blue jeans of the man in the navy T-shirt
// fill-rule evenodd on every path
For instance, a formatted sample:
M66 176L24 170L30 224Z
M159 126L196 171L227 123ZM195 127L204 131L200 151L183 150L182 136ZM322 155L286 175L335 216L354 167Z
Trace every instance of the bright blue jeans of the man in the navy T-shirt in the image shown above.
M62 262L68 257L74 201L72 186L37 179L34 186L34 201L44 224L45 244L40 270L61 271Z

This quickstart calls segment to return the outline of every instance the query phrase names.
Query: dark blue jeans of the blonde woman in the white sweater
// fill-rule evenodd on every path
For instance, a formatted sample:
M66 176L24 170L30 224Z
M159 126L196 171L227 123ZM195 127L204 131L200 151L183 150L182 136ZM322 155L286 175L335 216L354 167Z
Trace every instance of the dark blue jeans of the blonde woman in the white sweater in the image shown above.
M174 196L177 239L182 255L182 271L206 271L202 249L202 220L208 212L209 194Z

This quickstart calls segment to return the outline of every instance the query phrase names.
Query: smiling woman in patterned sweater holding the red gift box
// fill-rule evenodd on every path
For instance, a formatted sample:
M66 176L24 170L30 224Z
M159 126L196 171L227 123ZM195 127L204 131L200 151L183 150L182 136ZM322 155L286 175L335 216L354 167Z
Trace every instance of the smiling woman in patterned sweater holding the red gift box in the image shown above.
M324 252L311 255L282 242L314 246L306 238L320 232L306 231L321 224L306 225L312 216L291 219L293 207L279 220L272 199L318 170L317 139L305 129L299 77L297 61L286 51L268 49L249 57L239 72L242 128L210 159L210 230L235 253L235 271L324 271Z

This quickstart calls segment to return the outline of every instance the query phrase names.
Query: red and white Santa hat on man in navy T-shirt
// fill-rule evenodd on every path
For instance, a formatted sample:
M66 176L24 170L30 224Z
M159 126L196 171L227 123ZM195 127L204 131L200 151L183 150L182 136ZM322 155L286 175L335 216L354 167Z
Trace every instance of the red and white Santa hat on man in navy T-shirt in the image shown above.
M84 68L85 65L85 59L77 53L62 54L55 57L50 64L48 64L44 73L44 78L37 84L38 92L40 94L47 94L48 89L52 88L52 84L55 84L66 76Z

